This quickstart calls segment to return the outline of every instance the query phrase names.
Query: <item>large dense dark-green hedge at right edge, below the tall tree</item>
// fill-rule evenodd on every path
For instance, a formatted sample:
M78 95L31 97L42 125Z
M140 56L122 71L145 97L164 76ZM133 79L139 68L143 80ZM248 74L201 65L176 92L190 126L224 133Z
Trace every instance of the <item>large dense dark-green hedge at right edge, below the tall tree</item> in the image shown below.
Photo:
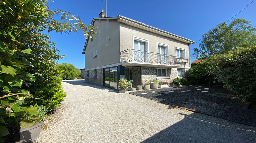
M215 55L215 74L225 88L236 93L247 105L256 105L256 47L236 48L225 54Z

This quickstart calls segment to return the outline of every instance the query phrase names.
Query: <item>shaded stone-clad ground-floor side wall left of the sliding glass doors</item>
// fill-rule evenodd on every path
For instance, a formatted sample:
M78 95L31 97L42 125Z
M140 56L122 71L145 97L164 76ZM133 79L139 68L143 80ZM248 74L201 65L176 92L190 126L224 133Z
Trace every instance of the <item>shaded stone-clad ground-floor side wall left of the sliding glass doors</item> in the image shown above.
M95 77L96 72L96 77ZM87 71L85 71L85 76L87 75ZM84 78L85 83L95 84L99 86L103 86L103 68L96 70L89 70L89 77Z

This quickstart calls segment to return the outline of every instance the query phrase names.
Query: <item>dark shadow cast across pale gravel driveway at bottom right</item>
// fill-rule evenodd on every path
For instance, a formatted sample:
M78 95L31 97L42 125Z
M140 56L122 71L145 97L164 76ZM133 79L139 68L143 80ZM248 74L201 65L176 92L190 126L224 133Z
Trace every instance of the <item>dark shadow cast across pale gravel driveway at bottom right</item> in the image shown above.
M232 127L229 124L212 123L211 120L200 119L199 113L184 115L184 119L176 124L158 132L142 143L166 143L166 142L247 142L253 143L256 140L256 130L242 125ZM254 130L253 130L254 129Z

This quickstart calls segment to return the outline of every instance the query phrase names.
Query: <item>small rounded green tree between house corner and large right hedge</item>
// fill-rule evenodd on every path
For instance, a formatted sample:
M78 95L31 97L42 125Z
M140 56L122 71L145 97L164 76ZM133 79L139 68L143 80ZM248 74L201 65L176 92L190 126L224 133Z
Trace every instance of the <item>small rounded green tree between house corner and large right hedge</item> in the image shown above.
M213 72L217 68L210 61L211 59L201 60L189 69L188 78L192 83L208 83L210 89L210 83L216 78Z

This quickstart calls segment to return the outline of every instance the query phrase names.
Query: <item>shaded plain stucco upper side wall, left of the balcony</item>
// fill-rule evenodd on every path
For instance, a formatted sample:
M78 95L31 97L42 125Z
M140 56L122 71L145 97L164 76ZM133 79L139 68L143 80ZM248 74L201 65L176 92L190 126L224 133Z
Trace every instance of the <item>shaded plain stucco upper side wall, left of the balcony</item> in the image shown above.
M93 41L89 40L85 51L85 70L120 62L119 22L112 20L96 20L98 34ZM97 55L93 57L93 52Z

